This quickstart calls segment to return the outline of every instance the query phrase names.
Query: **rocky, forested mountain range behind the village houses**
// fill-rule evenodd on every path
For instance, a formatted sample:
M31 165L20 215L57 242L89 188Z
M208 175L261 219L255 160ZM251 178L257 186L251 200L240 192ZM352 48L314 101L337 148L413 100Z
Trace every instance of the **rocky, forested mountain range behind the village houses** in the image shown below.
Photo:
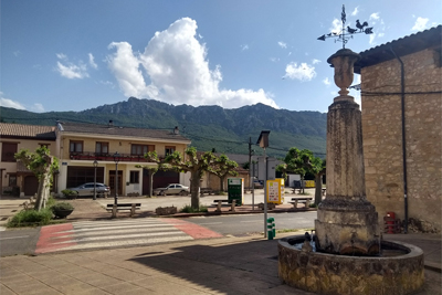
M0 107L1 122L55 125L55 120L107 124L116 126L170 129L192 140L200 151L215 150L225 154L249 154L249 140L256 155L261 130L270 130L266 154L284 157L291 147L307 148L318 157L325 157L327 114L276 109L263 104L240 108L220 106L170 105L154 99L128 101L81 112L32 113Z

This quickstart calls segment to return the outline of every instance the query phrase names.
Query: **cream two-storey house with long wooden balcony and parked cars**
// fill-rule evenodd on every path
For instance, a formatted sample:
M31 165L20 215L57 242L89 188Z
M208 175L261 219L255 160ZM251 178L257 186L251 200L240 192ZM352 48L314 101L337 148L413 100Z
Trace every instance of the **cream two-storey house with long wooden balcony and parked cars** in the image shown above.
M115 191L117 173L118 196L148 194L147 172L137 166L155 168L157 164L148 162L144 155L156 150L159 158L165 158L173 151L183 154L190 145L178 127L170 130L131 128L116 126L112 120L106 125L57 122L55 133L60 158L57 192L94 182L94 161L97 161L96 181L108 185L110 194ZM155 173L154 188L168 183L188 185L189 179L175 171Z

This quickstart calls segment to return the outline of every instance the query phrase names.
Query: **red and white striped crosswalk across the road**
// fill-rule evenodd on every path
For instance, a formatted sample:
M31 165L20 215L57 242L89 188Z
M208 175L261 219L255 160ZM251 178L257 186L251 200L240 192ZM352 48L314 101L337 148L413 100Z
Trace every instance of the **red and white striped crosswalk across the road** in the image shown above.
M35 253L126 247L221 236L220 233L179 219L85 221L43 226Z

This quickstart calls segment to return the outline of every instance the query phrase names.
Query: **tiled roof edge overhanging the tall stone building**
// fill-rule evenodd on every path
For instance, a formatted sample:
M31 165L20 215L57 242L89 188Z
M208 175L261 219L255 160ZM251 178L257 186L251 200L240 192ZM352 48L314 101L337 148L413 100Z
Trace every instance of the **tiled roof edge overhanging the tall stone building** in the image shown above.
M396 59L390 49L398 56L403 56L429 48L441 48L442 25L407 35L379 46L360 52L361 60L355 64L355 73L360 69Z

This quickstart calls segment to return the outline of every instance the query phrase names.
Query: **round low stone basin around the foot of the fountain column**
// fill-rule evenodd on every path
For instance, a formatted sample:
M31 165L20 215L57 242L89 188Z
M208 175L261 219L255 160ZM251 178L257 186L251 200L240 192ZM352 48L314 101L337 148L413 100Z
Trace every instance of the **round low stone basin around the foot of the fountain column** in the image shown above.
M423 251L382 241L393 256L348 256L305 252L292 246L304 235L278 241L278 276L287 285L318 294L410 294L424 282Z

